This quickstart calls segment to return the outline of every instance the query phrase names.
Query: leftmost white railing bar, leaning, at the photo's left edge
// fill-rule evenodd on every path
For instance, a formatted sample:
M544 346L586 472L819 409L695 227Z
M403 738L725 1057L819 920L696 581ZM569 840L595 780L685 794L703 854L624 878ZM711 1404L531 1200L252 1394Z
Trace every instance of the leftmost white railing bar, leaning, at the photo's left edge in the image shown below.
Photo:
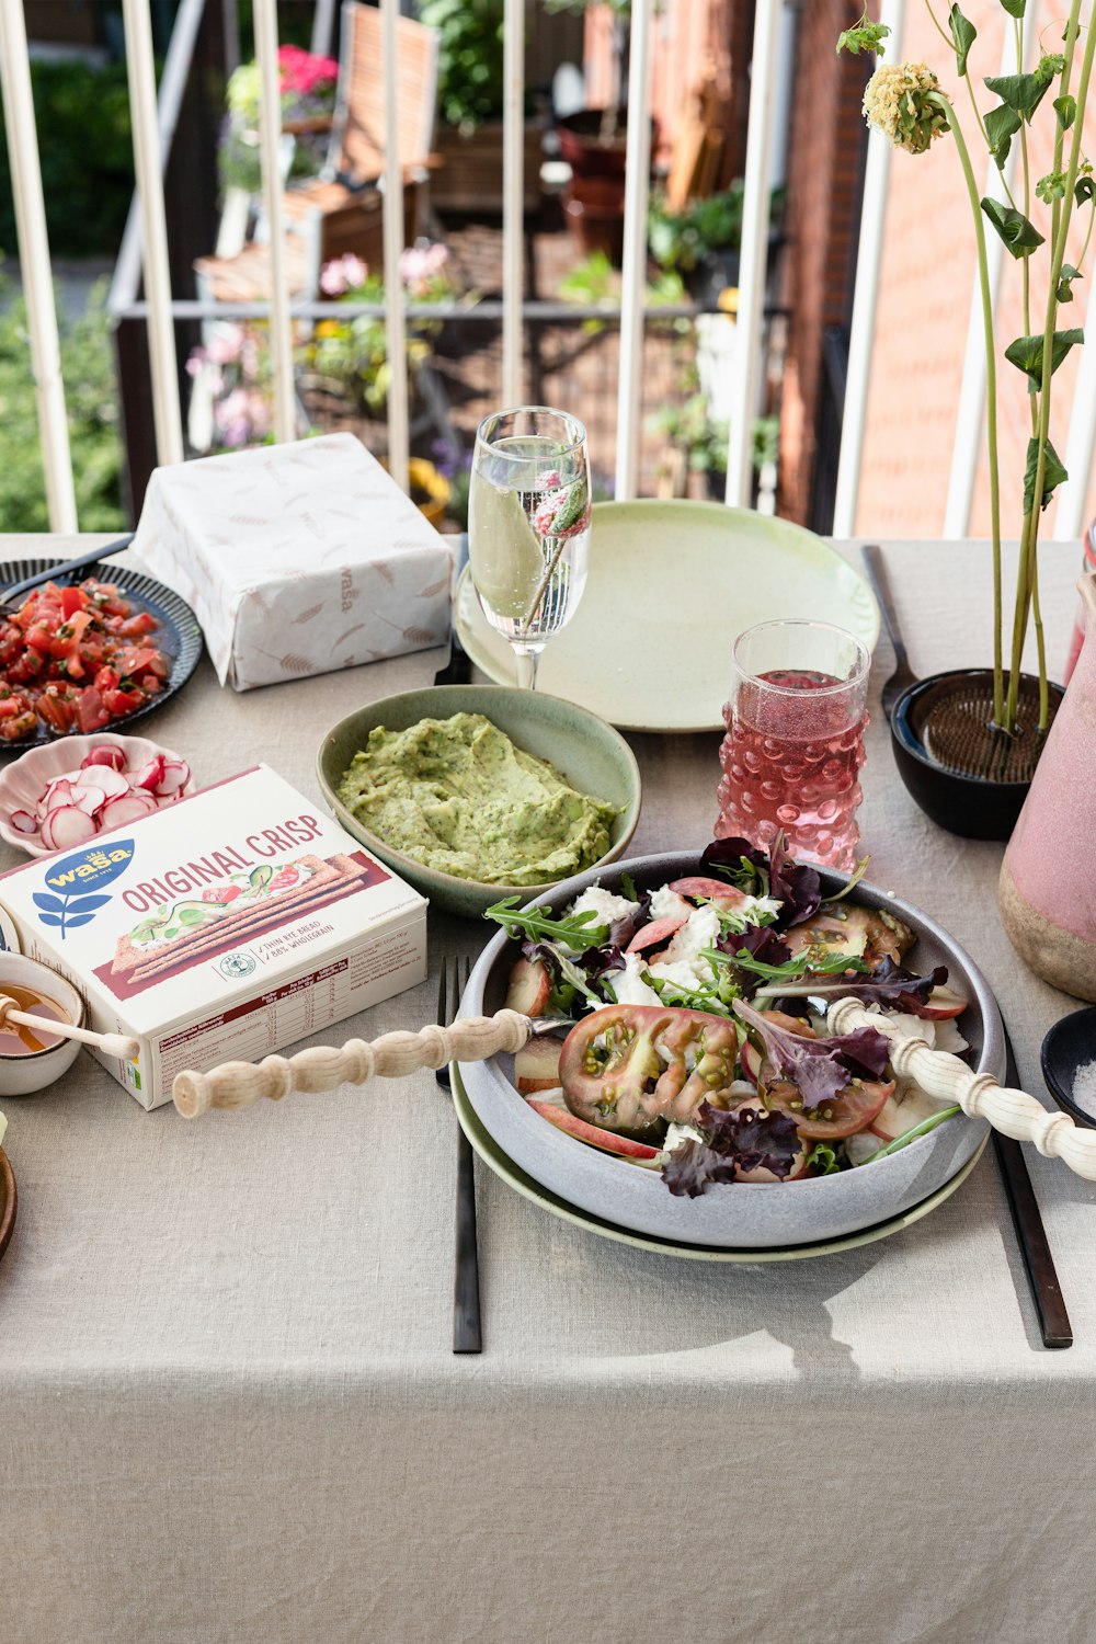
M20 268L23 271L26 321L31 335L31 370L35 373L38 437L41 441L49 529L72 533L79 529L76 487L72 482L64 380L61 376L58 309L49 263L49 235L46 232L46 202L41 187L38 127L35 123L35 97L31 92L30 58L26 54L23 0L0 0L0 85L3 89L3 123L12 159L12 192L15 196Z

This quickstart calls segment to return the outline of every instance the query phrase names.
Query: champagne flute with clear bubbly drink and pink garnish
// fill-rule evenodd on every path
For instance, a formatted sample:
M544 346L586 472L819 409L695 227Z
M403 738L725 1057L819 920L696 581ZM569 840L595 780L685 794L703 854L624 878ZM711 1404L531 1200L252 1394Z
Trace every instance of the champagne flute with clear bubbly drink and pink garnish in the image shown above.
M565 411L495 411L477 429L468 557L483 615L514 649L518 684L536 690L550 636L587 585L587 431Z

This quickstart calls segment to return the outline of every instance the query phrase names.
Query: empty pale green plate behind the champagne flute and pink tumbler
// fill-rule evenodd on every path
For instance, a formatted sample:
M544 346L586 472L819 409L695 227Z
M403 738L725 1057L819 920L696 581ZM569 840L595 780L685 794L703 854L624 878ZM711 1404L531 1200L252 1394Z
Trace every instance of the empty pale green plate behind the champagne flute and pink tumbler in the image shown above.
M864 579L812 531L723 503L596 503L590 575L572 621L549 640L537 689L618 730L723 728L731 646L756 621L813 616L874 649L879 607ZM501 686L513 651L465 570L457 633Z

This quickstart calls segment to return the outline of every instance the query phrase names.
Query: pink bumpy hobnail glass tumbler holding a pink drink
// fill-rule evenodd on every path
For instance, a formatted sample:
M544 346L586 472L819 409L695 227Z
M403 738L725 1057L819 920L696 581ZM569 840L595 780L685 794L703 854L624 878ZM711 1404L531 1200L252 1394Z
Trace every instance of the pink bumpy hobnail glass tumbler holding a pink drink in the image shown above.
M723 709L716 838L769 847L784 829L794 857L856 866L868 669L854 635L822 621L762 621L735 641Z

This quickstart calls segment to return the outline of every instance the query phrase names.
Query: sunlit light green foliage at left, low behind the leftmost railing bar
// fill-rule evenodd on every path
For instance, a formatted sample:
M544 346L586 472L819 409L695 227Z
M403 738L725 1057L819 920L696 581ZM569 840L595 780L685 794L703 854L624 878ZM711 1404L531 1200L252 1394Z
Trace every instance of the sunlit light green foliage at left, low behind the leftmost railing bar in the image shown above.
M122 508L122 444L118 391L107 332L105 283L87 312L61 324L61 368L69 409L69 442L76 503L82 531L118 531ZM0 268L0 531L48 531L46 483L38 437L38 411L30 365L26 306L13 298Z

